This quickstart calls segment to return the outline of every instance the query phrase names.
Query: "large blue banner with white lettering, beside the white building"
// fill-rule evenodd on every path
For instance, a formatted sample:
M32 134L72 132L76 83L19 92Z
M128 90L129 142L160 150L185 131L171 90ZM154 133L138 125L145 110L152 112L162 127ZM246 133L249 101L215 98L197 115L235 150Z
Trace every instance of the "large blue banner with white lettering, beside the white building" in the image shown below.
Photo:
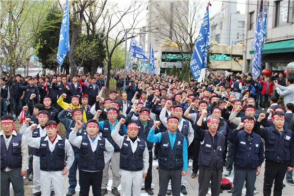
M210 49L210 31L209 31L209 3L206 6L206 12L196 39L195 48L190 61L190 70L195 79L200 77L201 69L206 67L207 53Z

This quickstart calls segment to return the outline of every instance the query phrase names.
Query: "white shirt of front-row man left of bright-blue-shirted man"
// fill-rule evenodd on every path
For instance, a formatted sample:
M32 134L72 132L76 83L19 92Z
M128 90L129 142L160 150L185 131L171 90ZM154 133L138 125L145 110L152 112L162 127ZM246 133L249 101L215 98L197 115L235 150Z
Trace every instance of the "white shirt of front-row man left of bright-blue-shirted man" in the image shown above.
M123 145L128 145L123 143L124 137L119 134L120 126L115 126L114 129L111 132L111 137L115 141L115 143L122 148ZM132 152L134 153L138 147L138 142L141 142L141 140L137 137L135 142L133 142L128 136L126 138L126 141L130 141ZM147 173L149 168L149 152L148 147L145 142L145 149L143 152L143 172Z

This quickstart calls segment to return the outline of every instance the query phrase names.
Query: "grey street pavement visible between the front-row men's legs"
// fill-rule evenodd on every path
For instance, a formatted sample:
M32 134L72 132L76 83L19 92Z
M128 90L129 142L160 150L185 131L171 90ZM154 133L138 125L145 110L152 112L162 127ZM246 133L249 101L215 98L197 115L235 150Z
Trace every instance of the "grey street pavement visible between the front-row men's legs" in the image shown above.
M158 191L159 191L159 181L158 181L158 170L156 169L156 166L158 165L157 161L153 161L153 168L152 168L152 183L155 185L153 192L154 192L154 196L157 196ZM255 196L263 196L263 179L264 179L264 165L265 163L262 165L262 169L261 169L261 173L259 176L257 176L256 178L256 182L255 182L255 187L256 187L256 191L258 193L255 194ZM189 162L189 168L188 168L188 174L187 174L187 179L188 179L188 189L187 189L187 196L198 196L198 178L191 178L191 169L192 169L192 161L190 160ZM224 168L225 170L225 168ZM109 171L109 184L110 185L112 183L111 181L111 171ZM77 176L78 176L78 172L77 172ZM224 177L224 176L222 176ZM229 177L228 177L229 178ZM289 184L286 183L286 180L284 179L284 183L286 184L286 187L283 189L283 193L282 196L294 196L294 186L291 186ZM25 196L31 196L32 195L32 181L30 182L25 182ZM109 186L110 187L110 186ZM66 177L65 179L65 192L67 193L67 188L68 188L68 178ZM120 190L121 187L119 187ZM92 188L90 188L90 196L92 196ZM76 193L74 196L78 196L78 190L79 187L76 188ZM108 190L111 190L111 188L109 188ZM273 190L273 188L272 188ZM122 191L120 191L121 195L123 196ZM221 196L231 196L231 193L227 193L227 190L223 191L223 193L220 194ZM273 192L271 192L271 195L273 195ZM106 196L113 196L111 194L111 191L108 191L108 194ZM144 191L144 189L142 189L141 191L141 196L148 196L147 193ZM181 194L181 196L183 196ZM207 196L210 196L209 194L207 194Z

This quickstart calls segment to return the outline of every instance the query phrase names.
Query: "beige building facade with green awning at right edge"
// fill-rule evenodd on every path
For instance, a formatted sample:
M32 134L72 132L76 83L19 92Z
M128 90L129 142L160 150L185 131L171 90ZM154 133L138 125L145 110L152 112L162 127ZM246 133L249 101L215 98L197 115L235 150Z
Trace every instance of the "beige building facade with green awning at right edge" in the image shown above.
M243 72L251 72L254 57L253 37L260 0L246 1L245 51ZM267 35L264 40L262 70L284 71L294 61L294 1L270 0L267 2ZM265 1L263 1L265 6ZM263 7L264 10L264 7Z

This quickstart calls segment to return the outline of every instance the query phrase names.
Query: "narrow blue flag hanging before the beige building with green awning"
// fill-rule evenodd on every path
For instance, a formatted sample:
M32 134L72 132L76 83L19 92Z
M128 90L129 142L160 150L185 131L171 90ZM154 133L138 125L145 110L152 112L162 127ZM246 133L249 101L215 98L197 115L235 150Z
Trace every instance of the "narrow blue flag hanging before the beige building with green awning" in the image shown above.
M266 22L265 22L265 25L266 25ZM262 1L259 7L255 34L253 38L254 58L252 62L252 76L255 78L257 78L261 73L261 58L262 58L262 47L263 47L263 38L264 38L263 36L264 33L262 32L261 27L262 27Z

